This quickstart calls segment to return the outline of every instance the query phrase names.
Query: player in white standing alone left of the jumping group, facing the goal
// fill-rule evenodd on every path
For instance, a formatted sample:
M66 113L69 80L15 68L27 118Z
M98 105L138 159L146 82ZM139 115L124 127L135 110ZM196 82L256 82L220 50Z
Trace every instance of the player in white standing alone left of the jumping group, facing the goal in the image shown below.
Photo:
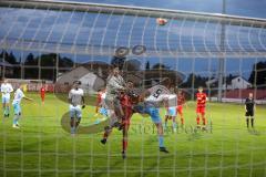
M75 81L73 83L73 88L69 92L69 110L70 110L70 126L71 134L74 135L75 131L80 124L82 114L81 108L84 108L84 91L80 88L81 82Z

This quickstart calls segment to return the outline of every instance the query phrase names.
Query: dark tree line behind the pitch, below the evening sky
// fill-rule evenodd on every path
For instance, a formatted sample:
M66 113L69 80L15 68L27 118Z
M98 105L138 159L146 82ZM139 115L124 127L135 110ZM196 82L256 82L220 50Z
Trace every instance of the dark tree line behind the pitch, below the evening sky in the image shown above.
M12 67L13 75L12 77L20 77L20 64L23 64L25 67L29 66L37 66L31 69L24 70L24 76L30 79L38 77L39 74L39 62L41 66L48 66L51 69L41 70L41 77L42 79L51 79L54 77L54 71L55 66L59 67L72 67L74 62L70 58L58 55L57 53L48 53L48 54L41 54L41 55L34 55L33 53L29 53L25 56L25 60L22 61L21 56L17 59L17 56L13 54L13 52L7 52L2 51L0 53L0 62L2 62L3 65L3 59L6 61L7 67ZM113 56L111 64L119 65L121 69L125 66L129 71L140 70L140 63L134 61L127 61L126 58L115 58ZM164 73L165 71L171 71L171 69L163 64L163 63L156 63L153 66L151 66L150 62L145 63L145 70L146 71L161 71ZM227 75L224 77L224 82L226 84L228 81L232 81L236 75ZM193 87L196 88L198 86L207 86L206 82L209 80L207 76L201 76L196 75L195 73L191 73L187 77L187 80L181 85L182 87ZM253 86L257 87L266 87L266 61L265 62L258 62L253 65L253 71L250 73L250 76L248 79L248 82L253 84ZM214 87L217 87L217 83L213 85Z

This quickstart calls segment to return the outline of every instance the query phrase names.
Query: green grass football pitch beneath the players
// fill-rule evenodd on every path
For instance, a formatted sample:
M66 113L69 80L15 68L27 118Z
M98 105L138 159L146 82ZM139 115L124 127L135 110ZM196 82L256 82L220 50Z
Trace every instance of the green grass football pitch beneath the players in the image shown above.
M255 129L247 129L244 106L209 103L211 132L194 132L195 103L185 108L186 131L166 132L170 154L157 149L156 132L149 117L132 118L127 158L121 158L121 133L114 131L106 145L101 134L71 137L61 127L68 104L48 95L23 101L21 128L12 114L0 124L0 176L266 176L266 107L257 106ZM164 111L162 111L162 115ZM1 113L2 115L2 113ZM94 107L83 111L82 125L92 123ZM171 123L168 123L171 125Z

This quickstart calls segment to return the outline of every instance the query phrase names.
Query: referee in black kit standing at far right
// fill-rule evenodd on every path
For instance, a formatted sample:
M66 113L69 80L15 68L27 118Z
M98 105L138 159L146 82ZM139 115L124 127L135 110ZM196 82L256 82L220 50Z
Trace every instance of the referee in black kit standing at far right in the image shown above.
M246 124L247 128L249 127L249 119L252 123L252 127L254 127L254 111L255 111L255 101L253 97L253 93L248 94L248 97L245 102L245 111L246 111ZM250 117L250 118L249 118Z

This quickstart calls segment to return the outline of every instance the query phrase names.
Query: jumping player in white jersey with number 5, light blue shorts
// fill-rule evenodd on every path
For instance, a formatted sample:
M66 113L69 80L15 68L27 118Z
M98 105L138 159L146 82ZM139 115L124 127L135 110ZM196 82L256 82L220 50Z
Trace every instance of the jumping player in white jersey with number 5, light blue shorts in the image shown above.
M168 85L168 80L164 82L164 85ZM163 83L162 83L163 84ZM166 86L163 85L155 85L147 90L145 93L146 98L144 98L144 106L135 106L134 110L139 113L149 114L156 125L157 135L158 135L158 148L160 152L168 153L164 146L164 132L162 125L162 118L160 117L160 106L167 100L167 95L170 91Z

